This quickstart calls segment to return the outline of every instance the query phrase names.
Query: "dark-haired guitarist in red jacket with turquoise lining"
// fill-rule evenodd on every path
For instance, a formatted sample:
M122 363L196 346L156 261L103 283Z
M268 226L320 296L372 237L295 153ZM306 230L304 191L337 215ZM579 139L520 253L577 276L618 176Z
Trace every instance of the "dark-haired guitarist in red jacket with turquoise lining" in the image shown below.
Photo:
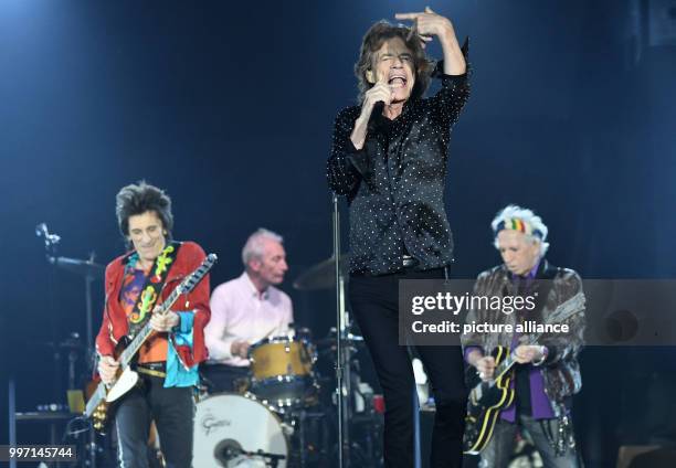
M114 382L118 374L116 348L124 345L125 337L133 337L148 321L154 330L137 353L139 383L115 405L119 465L148 467L147 440L155 421L166 466L188 468L197 364L207 358L203 330L210 318L209 278L179 296L172 310L158 311L181 278L201 264L204 252L196 243L171 241L171 200L154 185L139 182L123 188L116 213L133 251L106 268L106 301L96 338L104 383Z

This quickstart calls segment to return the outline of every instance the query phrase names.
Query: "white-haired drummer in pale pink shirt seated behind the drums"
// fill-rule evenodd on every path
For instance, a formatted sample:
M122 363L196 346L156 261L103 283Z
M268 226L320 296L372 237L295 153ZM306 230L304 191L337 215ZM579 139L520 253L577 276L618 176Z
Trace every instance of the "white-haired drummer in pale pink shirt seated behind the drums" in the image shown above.
M211 295L211 321L204 329L209 361L202 366L210 392L232 392L249 373L249 348L287 334L294 321L291 298L277 289L288 269L281 235L258 228L242 249L244 273Z

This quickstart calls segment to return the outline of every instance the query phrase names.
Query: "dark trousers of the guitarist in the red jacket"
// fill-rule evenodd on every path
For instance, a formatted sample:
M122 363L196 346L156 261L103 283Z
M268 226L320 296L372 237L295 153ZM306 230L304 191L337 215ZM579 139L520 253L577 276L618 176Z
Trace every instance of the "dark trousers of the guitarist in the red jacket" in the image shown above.
M167 468L190 468L193 389L165 389L161 377L139 376L140 385L123 396L115 414L119 466L148 468L148 432L155 421Z

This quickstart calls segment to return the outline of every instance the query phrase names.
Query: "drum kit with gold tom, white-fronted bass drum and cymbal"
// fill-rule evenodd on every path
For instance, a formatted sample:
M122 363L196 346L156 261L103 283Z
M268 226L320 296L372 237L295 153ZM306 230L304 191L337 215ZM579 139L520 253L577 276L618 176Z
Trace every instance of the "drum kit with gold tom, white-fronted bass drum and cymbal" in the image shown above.
M309 290L330 286L331 260L304 273L294 283ZM202 392L194 417L194 468L263 468L337 466L338 405L336 381L319 371L335 364L336 328L313 342L309 329L292 330L251 345L249 376L236 393ZM341 339L348 354L349 385L342 386L352 432L353 466L381 466L382 397L361 382L355 354L363 339L349 332ZM326 366L326 365L325 365ZM337 427L338 426L338 427ZM345 451L345 450L344 450Z

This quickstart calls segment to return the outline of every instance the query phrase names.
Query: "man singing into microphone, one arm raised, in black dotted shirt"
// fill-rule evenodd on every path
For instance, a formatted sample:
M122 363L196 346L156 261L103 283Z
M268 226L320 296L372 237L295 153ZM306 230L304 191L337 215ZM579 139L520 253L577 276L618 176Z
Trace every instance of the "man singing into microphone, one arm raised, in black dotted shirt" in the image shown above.
M444 209L451 128L469 95L466 45L451 21L429 8L397 14L366 33L355 72L360 106L341 110L328 159L328 183L350 208L352 312L373 358L385 398L387 467L413 466L414 379L398 344L399 279L444 278L453 241ZM424 45L436 36L444 60L433 67ZM430 78L440 91L423 98ZM455 347L419 347L436 416L432 466L460 467L466 391Z

